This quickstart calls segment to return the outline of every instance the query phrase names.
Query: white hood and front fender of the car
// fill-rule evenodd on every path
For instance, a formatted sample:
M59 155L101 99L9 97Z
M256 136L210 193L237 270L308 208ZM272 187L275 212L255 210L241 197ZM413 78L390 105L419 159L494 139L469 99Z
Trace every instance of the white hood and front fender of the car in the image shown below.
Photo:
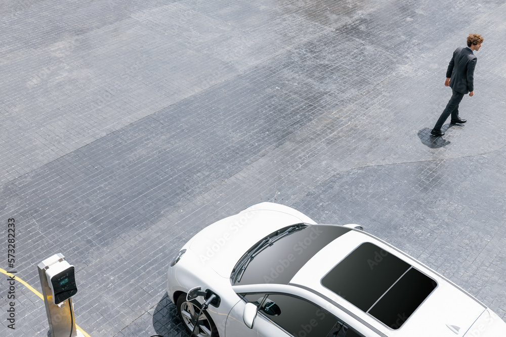
M254 205L202 229L181 248L186 252L180 261L168 268L167 293L173 303L177 301L177 294L187 293L194 286L201 286L203 291L211 288L219 294L222 300L220 307L210 306L207 311L212 315L221 336L225 335L231 308L239 301L244 303L232 291L230 284L230 273L237 260L250 246L279 228L293 223L315 224L309 217L289 207L276 204L262 207L262 204L270 203ZM215 244L218 246L213 247ZM197 298L197 301L203 303L202 298ZM247 328L244 322L242 325ZM269 330L274 327L268 323Z

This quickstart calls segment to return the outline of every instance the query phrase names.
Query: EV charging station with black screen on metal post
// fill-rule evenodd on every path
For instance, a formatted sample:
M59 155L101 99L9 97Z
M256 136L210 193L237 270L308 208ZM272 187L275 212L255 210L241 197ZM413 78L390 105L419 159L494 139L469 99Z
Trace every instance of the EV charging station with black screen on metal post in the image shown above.
M77 293L74 266L58 253L37 265L51 337L83 337L76 331L71 297Z

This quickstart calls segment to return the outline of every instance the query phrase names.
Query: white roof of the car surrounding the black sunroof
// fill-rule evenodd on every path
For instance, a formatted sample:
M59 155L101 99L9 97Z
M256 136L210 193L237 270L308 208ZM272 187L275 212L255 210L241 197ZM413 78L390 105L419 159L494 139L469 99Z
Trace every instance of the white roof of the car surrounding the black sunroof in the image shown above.
M339 292L336 294L322 284L322 278L324 278L329 271L358 247L367 243L373 244L379 249L395 255L401 261L409 264L417 271L420 271L437 282L437 287L433 293L422 302L407 320L405 320L405 326L402 326L399 330L392 329L370 314L366 314L364 310L361 310L348 301L350 299L347 299L346 295L340 294ZM373 261L373 263L375 263L375 261ZM458 321L460 324L459 326L462 328L471 326L474 320L479 317L486 308L486 306L471 295L462 291L459 287L417 260L382 240L359 230L347 232L319 251L293 276L289 284L301 286L320 294L322 297L328 299L328 301L349 310L351 315L363 318L371 326L382 331L389 331L387 332L389 335L395 335L395 332L402 330L402 333L410 331L411 334L406 335L416 336L418 335L417 330L423 327L424 324L427 325L428 319L430 321L440 320L440 326L442 327L454 321ZM420 309L422 307L424 308ZM438 315L435 315L435 312L438 312ZM446 331L442 331L442 333L443 332Z

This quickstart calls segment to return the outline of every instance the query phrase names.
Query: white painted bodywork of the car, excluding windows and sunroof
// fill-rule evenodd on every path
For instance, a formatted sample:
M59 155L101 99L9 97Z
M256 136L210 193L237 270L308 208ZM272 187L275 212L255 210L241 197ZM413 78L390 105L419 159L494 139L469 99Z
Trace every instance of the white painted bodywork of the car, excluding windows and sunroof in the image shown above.
M260 312L253 329L248 328L242 318L246 302L238 295L246 292L277 292L301 297L342 319L365 337L506 336L506 323L470 294L399 249L358 229L349 230L323 247L288 284L231 284L232 269L246 251L270 233L297 223L316 224L289 207L261 203L204 228L183 246L186 253L169 268L168 295L175 302L179 294L195 286L201 286L203 291L213 290L220 296L221 305L210 306L207 312L222 337L225 333L227 337L289 335ZM372 243L395 255L437 282L432 293L398 329L387 327L321 283L329 270L363 243ZM201 297L197 300L204 302Z

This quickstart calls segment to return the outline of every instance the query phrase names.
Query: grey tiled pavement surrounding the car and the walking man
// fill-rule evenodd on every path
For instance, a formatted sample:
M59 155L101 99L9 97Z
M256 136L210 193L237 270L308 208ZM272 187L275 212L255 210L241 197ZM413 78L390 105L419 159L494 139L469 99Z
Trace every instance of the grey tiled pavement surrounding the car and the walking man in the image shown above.
M18 276L62 253L92 336L186 335L168 261L261 201L360 223L506 318L506 4L0 2L0 219ZM470 32L476 95L429 135ZM7 259L0 267L10 270ZM6 317L7 281L0 278ZM19 284L16 329L46 336Z

